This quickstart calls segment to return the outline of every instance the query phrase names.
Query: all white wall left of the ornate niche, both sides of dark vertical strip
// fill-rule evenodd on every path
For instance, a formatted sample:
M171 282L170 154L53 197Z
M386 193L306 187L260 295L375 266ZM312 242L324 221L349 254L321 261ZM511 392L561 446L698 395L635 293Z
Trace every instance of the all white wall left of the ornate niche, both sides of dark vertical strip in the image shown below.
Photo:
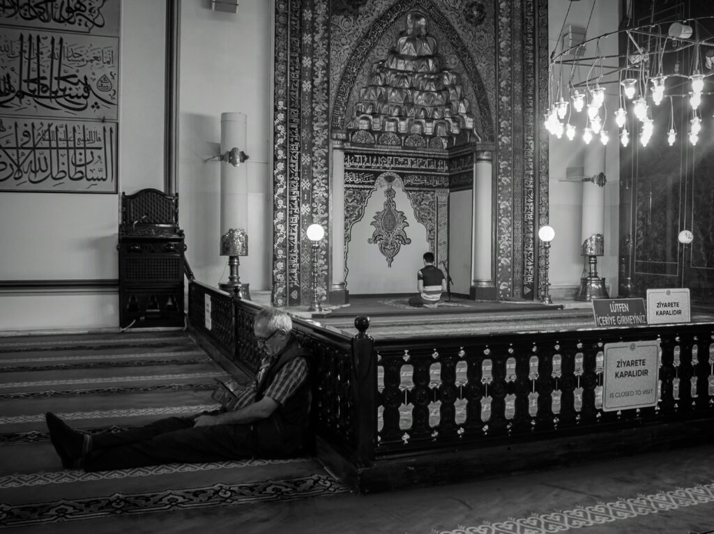
M178 193L187 257L199 280L216 284L218 153L223 111L248 115L248 236L241 280L271 281L271 13L273 2L243 0L237 14L209 0L181 2ZM119 192L164 188L166 7L121 1ZM0 280L116 279L119 196L0 193ZM226 274L223 275L225 280ZM116 289L0 293L0 331L119 325Z

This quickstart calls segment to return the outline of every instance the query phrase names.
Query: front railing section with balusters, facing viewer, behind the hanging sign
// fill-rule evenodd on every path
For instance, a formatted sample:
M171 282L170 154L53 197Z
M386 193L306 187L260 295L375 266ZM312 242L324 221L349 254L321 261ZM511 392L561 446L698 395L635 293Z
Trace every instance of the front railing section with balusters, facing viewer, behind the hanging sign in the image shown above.
M377 341L377 455L714 418L714 328ZM602 409L603 345L658 339L660 401Z

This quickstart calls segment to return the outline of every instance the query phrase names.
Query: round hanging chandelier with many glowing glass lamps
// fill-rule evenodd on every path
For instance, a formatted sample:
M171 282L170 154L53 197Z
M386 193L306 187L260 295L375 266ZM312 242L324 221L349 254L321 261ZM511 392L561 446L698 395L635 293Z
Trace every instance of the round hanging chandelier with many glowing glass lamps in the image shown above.
M705 91L714 89L714 36L703 25L711 21L714 16L620 29L553 54L545 128L557 138L565 134L573 141L580 133L585 144L599 138L606 145L610 124L618 130L623 146L635 135L647 146L655 133L665 135L672 146L678 126L688 123L688 140L695 145L701 131L702 97L714 94ZM620 54L600 54L605 44L613 45L606 39L615 41ZM595 44L595 54L586 57L590 43ZM618 96L618 109L609 112L615 124L605 103L607 86L615 86L608 95ZM669 106L669 113L658 111L656 117L661 123L666 116L668 124L655 126L653 112L663 106ZM675 106L678 113L688 115L686 123L675 121Z

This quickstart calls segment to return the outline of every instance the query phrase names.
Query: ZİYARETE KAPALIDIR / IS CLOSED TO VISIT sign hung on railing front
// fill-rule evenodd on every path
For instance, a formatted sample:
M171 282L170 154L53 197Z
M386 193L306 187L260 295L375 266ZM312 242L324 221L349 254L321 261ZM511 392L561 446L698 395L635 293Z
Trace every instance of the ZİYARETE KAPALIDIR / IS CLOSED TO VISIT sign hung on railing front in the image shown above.
M657 404L660 342L607 343L603 363L603 411Z

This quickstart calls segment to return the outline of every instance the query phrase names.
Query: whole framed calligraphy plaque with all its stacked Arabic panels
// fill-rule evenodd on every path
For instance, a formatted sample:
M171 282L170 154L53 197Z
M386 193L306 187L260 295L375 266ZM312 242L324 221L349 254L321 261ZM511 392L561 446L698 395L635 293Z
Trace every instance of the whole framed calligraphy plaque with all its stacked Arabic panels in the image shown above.
M119 11L0 3L0 191L118 190Z

